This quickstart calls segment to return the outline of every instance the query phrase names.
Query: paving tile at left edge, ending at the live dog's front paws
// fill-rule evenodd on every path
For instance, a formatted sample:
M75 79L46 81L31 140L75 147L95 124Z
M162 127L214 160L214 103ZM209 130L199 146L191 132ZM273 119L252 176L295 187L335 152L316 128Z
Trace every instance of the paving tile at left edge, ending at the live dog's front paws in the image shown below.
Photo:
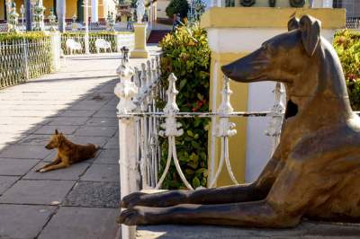
M0 175L21 176L28 173L40 160L0 158Z

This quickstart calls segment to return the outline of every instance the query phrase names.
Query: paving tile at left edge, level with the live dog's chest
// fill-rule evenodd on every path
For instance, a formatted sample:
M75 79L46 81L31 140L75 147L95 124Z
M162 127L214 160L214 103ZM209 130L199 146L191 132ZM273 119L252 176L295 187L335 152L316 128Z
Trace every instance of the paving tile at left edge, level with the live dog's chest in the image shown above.
M49 155L44 146L8 146L1 153L0 158L43 159Z

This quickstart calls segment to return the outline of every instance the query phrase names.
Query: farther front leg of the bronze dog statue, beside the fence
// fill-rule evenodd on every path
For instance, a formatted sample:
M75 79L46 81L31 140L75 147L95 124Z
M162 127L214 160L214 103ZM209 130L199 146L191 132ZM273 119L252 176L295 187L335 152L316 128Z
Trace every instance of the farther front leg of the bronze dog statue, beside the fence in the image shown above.
M184 203L222 204L265 199L283 167L279 160L280 150L278 148L257 181L251 184L205 190L171 190L155 194L135 192L121 200L121 208L170 207Z

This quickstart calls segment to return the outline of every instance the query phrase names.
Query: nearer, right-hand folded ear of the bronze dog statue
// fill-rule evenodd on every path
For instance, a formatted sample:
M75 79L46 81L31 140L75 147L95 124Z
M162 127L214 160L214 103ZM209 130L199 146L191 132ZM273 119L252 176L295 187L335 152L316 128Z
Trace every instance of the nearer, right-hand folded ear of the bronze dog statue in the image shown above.
M302 45L310 57L314 55L315 49L319 45L320 28L321 22L309 15L303 15L300 19Z

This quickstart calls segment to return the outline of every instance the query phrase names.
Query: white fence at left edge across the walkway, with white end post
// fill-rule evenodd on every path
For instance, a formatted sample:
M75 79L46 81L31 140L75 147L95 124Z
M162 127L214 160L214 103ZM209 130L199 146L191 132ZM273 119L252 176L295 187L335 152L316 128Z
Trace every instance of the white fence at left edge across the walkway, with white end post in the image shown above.
M0 42L0 88L21 84L59 66L58 36Z

